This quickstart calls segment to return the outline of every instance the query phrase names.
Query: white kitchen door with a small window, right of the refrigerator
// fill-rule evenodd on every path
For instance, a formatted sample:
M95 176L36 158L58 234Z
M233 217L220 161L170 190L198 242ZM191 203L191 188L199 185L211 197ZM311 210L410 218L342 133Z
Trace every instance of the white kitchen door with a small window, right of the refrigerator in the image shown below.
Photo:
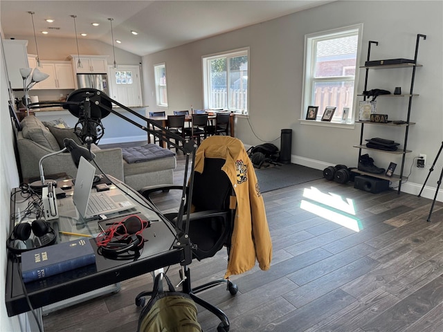
M109 66L109 96L127 107L143 106L138 66Z

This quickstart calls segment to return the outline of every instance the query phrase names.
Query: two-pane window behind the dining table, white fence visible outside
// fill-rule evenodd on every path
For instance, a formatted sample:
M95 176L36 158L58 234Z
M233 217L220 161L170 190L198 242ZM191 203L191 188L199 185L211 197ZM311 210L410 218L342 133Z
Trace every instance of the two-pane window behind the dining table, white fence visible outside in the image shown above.
M206 109L248 113L247 48L203 57Z

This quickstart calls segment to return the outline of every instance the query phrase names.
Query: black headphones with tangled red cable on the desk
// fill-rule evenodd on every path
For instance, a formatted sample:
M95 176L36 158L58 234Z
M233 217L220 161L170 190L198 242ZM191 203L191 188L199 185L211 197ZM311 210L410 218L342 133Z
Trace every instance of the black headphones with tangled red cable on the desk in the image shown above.
M132 258L134 255L119 257L128 251L135 251L143 248L144 240L141 233L150 226L149 221L145 221L137 215L127 216L126 219L111 225L105 232L99 234L96 243L102 255L109 258Z

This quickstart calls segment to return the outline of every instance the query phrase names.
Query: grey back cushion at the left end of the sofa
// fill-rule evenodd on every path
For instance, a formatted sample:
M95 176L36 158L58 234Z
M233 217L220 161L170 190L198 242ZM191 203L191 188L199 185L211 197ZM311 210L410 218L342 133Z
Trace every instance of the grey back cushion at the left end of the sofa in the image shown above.
M60 149L60 145L58 145L58 142L51 131L49 131L42 121L35 116L26 116L26 118L21 120L21 128L24 138L33 140L37 144L53 151L58 151Z

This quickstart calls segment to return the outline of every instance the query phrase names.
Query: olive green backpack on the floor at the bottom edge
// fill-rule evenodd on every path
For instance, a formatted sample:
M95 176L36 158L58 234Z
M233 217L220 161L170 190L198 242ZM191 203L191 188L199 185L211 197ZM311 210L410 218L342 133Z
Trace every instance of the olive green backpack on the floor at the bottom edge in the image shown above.
M159 291L163 277L169 291ZM138 332L201 332L197 321L197 306L190 295L176 292L170 279L160 273L156 276L150 301L138 318Z

